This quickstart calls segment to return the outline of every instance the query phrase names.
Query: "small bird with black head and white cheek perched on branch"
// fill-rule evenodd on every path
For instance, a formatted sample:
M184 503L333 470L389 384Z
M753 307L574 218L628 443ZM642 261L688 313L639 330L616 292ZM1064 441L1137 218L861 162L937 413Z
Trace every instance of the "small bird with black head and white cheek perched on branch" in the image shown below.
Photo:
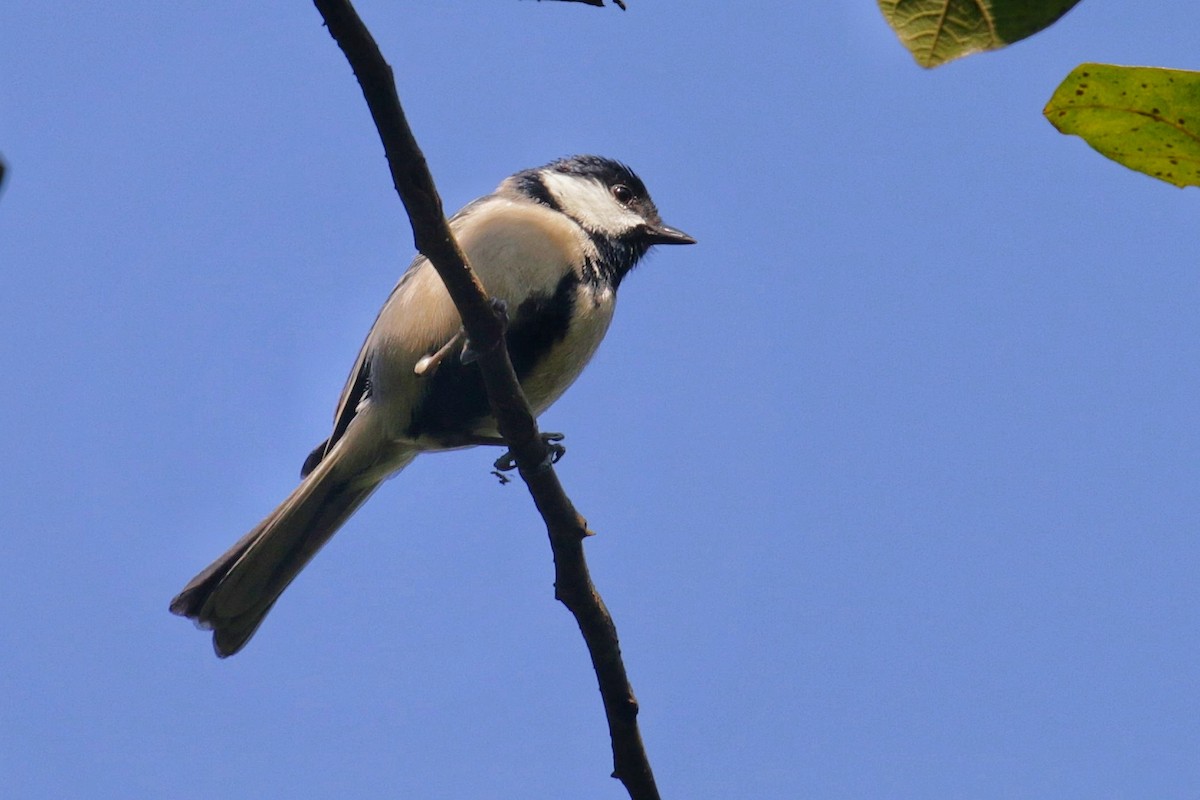
M570 156L517 172L450 218L484 288L509 318L505 344L534 414L575 381L613 317L617 290L656 245L695 239L664 224L622 162ZM424 255L366 336L296 488L170 602L241 650L280 595L379 485L424 452L503 444L470 342ZM560 451L559 451L560 452Z

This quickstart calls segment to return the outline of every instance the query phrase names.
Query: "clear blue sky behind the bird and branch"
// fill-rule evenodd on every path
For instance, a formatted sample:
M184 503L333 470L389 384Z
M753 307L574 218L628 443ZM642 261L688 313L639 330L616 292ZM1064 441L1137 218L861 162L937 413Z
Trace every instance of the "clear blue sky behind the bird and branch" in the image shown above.
M700 240L542 417L672 798L1200 793L1195 191L1040 115L1200 67L1085 0L919 70L875 4L361 2L448 209L574 152ZM412 257L293 4L8 4L0 784L622 798L496 453L385 485L238 656L168 600L294 486Z

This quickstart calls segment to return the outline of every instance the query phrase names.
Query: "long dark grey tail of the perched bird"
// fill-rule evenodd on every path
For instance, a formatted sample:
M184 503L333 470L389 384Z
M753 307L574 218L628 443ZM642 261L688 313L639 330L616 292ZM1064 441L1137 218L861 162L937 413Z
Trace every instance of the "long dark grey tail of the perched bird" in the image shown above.
M212 631L212 646L222 658L245 646L288 584L382 482L347 481L335 464L322 462L170 602L173 613Z

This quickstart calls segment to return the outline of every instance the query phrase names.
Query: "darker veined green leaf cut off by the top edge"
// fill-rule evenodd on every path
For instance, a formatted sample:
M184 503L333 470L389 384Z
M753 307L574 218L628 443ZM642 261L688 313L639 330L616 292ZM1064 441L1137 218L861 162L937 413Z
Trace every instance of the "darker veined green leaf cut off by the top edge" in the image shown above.
M923 67L995 50L1050 26L1079 0L878 0Z

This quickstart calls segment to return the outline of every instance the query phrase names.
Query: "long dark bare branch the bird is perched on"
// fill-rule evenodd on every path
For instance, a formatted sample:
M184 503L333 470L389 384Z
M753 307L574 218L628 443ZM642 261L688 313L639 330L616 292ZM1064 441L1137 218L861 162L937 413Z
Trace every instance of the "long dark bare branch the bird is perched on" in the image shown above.
M396 192L413 224L416 248L430 259L454 299L463 327L479 351L492 413L521 477L546 521L554 554L554 596L575 615L592 655L612 738L613 777L632 800L658 800L659 792L637 728L637 699L620 657L617 628L596 593L583 555L587 521L571 504L538 432L508 348L504 323L450 233L442 200L396 95L391 67L348 0L313 0L330 35L346 54L371 109Z

